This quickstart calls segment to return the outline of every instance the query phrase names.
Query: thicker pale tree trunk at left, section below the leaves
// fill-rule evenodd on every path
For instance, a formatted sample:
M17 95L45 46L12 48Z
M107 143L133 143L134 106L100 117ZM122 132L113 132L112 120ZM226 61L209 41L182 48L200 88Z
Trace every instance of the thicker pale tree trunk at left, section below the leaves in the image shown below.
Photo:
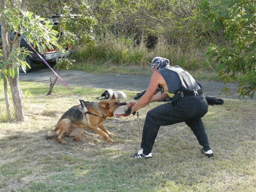
M13 99L13 106L14 106L14 117L18 121L24 120L23 115L23 105L22 105L22 91L20 90L20 83L19 83L19 68L18 75L15 75L14 78L8 76L8 81L12 90L12 99Z

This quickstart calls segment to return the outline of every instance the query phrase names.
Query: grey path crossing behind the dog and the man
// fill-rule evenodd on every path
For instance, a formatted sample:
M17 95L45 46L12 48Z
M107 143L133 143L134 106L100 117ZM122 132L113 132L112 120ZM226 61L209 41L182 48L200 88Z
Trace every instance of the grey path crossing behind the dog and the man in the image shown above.
M20 73L20 81L35 81L40 83L50 84L50 76L55 78L55 74L48 68L36 68L31 73ZM131 91L144 91L147 89L150 77L142 77L135 75L121 75L114 76L109 75L95 75L82 71L61 71L59 76L67 83L67 85L83 86L84 88L102 88L113 90L131 90ZM198 81L203 86L203 92L210 97L227 98L227 99L241 99L236 93L237 84L215 81ZM60 80L56 84L63 84ZM226 97L226 95L219 93L225 86L231 88L232 95ZM250 100L250 98L244 98ZM255 97L253 100L256 100Z

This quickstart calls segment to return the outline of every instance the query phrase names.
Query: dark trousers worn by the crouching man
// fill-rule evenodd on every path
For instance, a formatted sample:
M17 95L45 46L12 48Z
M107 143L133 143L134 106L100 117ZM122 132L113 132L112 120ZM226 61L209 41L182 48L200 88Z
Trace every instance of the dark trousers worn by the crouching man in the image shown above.
M161 104L148 111L142 133L141 148L152 151L160 126L185 122L202 146L209 145L201 117L208 111L204 94L179 98L177 102Z

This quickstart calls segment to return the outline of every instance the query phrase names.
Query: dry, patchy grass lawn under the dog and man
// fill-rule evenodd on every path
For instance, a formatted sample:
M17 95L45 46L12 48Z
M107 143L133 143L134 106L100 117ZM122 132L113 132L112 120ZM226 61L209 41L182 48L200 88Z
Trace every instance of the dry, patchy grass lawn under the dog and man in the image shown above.
M191 130L183 123L161 127L153 158L133 160L139 150L138 119L114 117L105 125L115 143L87 129L82 142L65 138L59 144L44 138L70 107L79 104L72 93L56 86L21 82L24 122L7 122L0 82L0 191L255 191L256 102L224 99L209 106L203 117L215 157L207 159ZM71 87L81 99L96 101L104 90ZM136 92L123 90L131 101ZM143 128L146 112L139 111Z

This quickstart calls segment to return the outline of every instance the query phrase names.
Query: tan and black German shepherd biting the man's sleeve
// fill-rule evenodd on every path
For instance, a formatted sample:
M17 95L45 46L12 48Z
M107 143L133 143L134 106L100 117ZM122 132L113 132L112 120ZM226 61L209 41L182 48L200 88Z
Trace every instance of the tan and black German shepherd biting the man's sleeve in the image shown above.
M66 143L62 139L63 135L74 137L73 141L80 142L81 135L86 128L90 128L95 133L103 136L107 142L114 143L110 138L110 133L103 125L107 117L114 116L114 110L117 107L126 105L126 102L120 102L115 99L100 102L81 102L67 110L61 119L59 119L54 130L48 131L46 138L55 138L59 143Z

